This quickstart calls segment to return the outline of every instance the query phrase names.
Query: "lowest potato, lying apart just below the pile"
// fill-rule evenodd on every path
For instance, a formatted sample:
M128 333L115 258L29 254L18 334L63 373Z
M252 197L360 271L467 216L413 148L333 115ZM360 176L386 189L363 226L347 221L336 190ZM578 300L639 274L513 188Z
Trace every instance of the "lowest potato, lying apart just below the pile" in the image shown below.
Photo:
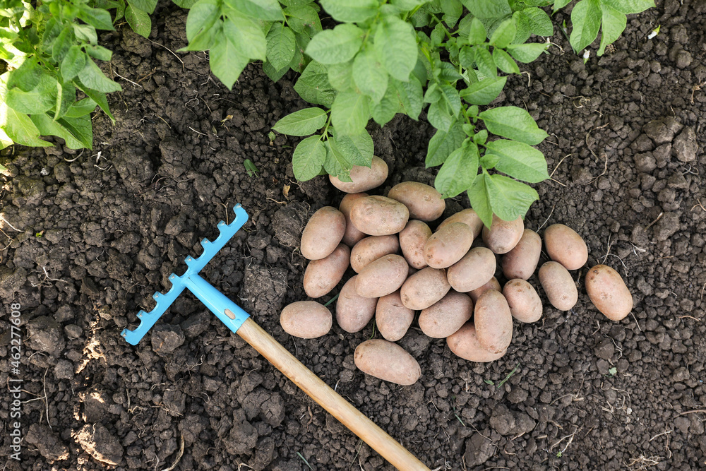
M353 354L355 366L370 376L410 386L421 376L417 360L400 345L382 339L366 340Z

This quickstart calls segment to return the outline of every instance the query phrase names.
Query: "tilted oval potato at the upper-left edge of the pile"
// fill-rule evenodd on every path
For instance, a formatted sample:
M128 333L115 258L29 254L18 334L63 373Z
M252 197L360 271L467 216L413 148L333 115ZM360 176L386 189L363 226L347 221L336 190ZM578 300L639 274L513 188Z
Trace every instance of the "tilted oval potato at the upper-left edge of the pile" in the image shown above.
M301 234L301 255L309 260L328 257L343 239L346 218L339 210L324 206L313 213Z

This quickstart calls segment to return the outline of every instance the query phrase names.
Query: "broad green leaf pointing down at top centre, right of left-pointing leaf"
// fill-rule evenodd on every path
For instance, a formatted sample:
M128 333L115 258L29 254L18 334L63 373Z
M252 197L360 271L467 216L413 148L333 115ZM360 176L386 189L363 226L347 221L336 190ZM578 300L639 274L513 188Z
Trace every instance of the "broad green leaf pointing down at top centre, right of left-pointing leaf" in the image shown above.
M419 54L412 25L396 16L385 16L378 23L375 49L390 76L401 82L409 81Z

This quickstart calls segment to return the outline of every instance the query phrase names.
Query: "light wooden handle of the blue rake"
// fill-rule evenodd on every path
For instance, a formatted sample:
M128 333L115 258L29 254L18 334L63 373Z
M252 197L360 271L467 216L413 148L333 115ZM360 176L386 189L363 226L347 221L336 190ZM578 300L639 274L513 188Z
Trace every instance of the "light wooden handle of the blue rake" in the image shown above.
M397 443L383 429L365 417L359 410L342 398L335 390L321 381L318 376L301 364L285 347L265 332L260 326L248 318L238 329L238 335L248 342L255 350L268 359L287 378L299 386L310 398L328 410L333 417L368 443L373 450L388 460L400 471L429 471L429 468L407 451L407 448Z

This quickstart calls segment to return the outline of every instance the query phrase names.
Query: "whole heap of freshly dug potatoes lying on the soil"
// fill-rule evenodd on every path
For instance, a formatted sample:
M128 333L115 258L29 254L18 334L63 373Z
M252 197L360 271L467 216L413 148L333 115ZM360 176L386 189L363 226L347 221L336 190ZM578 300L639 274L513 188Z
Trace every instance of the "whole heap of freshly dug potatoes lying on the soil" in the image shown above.
M316 211L304 228L301 254L311 260L304 291L322 297L353 268L357 275L340 291L336 321L353 333L375 317L386 340L362 342L354 362L376 378L409 385L421 376L419 363L394 343L407 333L416 311L421 311L421 331L446 338L458 357L472 362L502 357L513 338L513 318L535 322L542 316L542 301L526 281L539 263L542 239L525 229L520 217L510 222L493 217L491 227L484 227L472 209L446 218L432 232L427 222L445 209L441 194L416 181L393 186L388 196L363 193L387 175L385 162L374 157L371 168L354 167L352 182L331 178L349 194L338 210L325 206ZM568 311L578 301L568 270L585 265L587 246L561 224L546 228L544 246L551 261L539 268L539 282L551 305ZM509 280L504 287L495 278L496 255L501 254L502 273ZM611 320L633 309L630 291L612 268L594 266L585 283L593 304ZM280 323L290 335L316 338L328 333L333 318L322 304L300 301L282 310Z

